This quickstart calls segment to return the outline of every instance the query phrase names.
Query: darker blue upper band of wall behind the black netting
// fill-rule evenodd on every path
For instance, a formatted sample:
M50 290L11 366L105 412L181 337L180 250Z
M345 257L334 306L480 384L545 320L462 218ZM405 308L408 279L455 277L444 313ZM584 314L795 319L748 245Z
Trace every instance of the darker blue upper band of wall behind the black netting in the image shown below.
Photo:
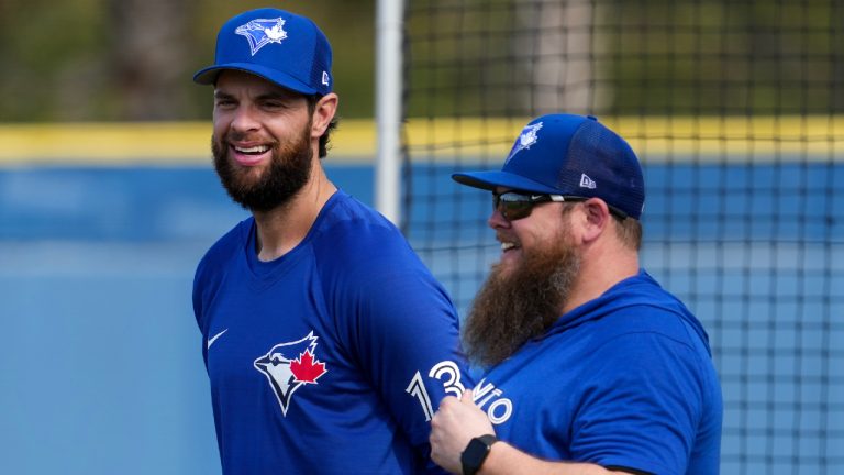
M453 165L442 164L411 174L412 189L421 194L406 210L421 225L410 230L411 238L442 232L423 229L430 223L457 228L486 219L489 194L456 186L449 179L454 172ZM844 240L842 164L656 163L646 165L644 175L648 241Z

